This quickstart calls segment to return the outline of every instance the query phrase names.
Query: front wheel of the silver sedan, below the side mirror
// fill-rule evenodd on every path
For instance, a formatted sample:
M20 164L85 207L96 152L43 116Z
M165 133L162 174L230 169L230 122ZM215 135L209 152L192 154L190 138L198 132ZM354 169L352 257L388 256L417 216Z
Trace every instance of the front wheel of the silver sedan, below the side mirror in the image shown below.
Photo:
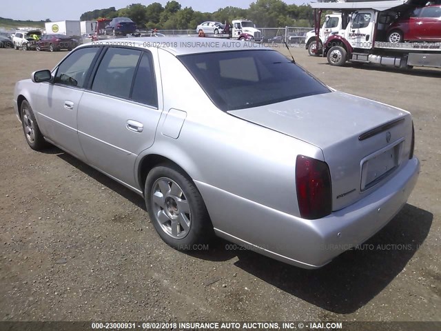
M47 148L49 143L44 140L28 101L24 100L21 103L20 114L21 126L23 127L23 132L29 147L32 148L32 150L43 150Z

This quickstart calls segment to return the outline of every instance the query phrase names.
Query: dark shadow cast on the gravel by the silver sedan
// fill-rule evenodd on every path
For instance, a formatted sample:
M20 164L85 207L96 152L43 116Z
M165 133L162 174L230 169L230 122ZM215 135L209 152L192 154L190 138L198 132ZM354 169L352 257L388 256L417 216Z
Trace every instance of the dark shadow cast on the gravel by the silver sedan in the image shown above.
M144 199L138 194L70 154L53 149L64 161L146 210ZM250 250L227 250L229 243L223 239L214 239L209 250L187 254L209 261L237 257L234 265L254 277L330 312L349 314L371 301L400 274L429 234L432 220L431 212L406 204L366 243L340 254L318 270L297 268Z

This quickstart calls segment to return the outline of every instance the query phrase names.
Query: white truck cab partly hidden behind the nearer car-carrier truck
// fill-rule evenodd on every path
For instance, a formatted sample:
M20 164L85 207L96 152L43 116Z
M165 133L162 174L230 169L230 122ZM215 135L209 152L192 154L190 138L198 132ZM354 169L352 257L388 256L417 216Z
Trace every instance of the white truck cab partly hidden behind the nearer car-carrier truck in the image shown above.
M342 14L340 12L334 12L332 14L327 14L325 16L325 23L323 23L322 28L320 28L319 32L319 41L318 41L318 51L317 43L316 43L316 32L311 30L306 34L306 49L308 50L309 55L311 57L318 56L322 50L323 43L325 43L326 39L333 32L338 32L342 30Z

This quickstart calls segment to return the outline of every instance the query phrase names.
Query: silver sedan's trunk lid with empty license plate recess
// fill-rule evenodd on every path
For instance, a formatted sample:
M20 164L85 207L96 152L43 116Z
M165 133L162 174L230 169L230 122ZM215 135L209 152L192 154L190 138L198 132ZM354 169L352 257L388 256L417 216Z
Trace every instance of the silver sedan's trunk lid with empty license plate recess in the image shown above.
M331 172L333 210L375 190L409 156L408 112L342 92L229 114L320 148Z

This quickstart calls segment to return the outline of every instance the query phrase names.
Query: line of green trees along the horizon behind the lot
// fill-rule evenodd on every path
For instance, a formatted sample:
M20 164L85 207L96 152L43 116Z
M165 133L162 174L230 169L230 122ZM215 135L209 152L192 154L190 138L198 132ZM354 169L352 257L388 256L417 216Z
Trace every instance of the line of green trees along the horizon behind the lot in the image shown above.
M154 2L148 6L141 3L116 10L115 7L96 9L81 14L81 21L100 18L129 17L139 28L187 30L195 29L203 21L228 21L233 19L251 19L262 28L282 26L312 26L312 9L307 5L288 5L282 0L256 0L243 9L228 6L216 12L199 12L192 7L182 8L178 1L167 1L165 6Z

